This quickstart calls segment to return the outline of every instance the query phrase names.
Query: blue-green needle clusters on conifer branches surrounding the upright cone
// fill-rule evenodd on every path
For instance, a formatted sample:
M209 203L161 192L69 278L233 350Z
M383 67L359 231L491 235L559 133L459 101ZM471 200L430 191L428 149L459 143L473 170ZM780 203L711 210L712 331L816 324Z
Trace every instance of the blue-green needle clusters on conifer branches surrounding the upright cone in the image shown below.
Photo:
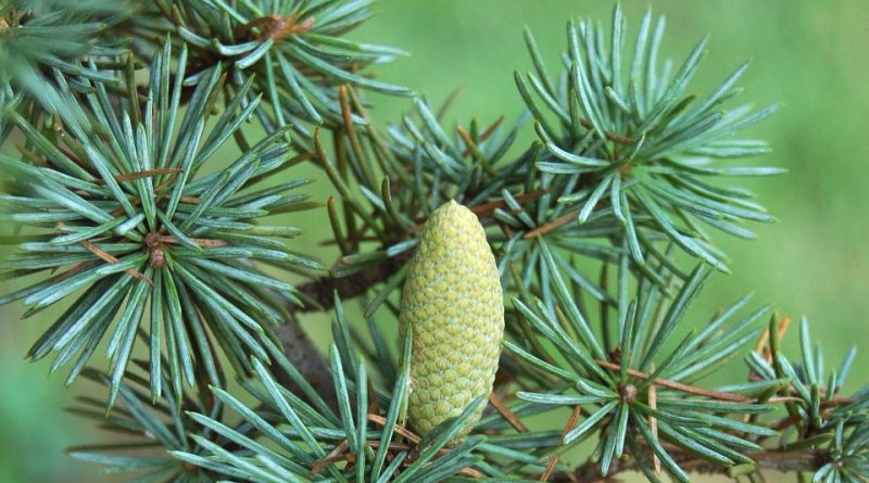
M370 3L0 1L0 304L46 322L29 358L104 390L71 410L123 435L74 458L137 482L869 481L869 387L842 392L856 351L824 368L802 320L785 353L790 319L748 296L685 318L728 270L714 236L774 220L738 180L781 171L740 137L776 110L733 103L746 65L694 92L707 40L672 62L664 17L628 29L616 5L608 28L568 22L554 68L525 31L517 122L448 126L449 102L374 76L401 50L345 36ZM369 92L406 114L374 119ZM418 258L468 236L427 227L445 203L484 230L468 253L494 254L494 383L470 380L450 309L491 288L414 275L398 330L411 260L438 277ZM300 253L303 211L327 247ZM423 365L427 404L462 404L417 434Z

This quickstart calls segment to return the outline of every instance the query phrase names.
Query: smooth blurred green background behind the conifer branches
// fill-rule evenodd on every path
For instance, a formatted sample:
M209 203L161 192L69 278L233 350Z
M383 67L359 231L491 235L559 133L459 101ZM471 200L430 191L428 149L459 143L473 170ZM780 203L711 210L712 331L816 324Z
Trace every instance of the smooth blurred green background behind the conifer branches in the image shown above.
M732 256L733 275L714 279L700 309L708 314L754 291L757 303L808 316L832 364L853 344L869 346L869 2L651 4L667 15L665 52L677 61L701 36L713 34L694 91L714 87L741 61L752 59L740 101L783 104L750 132L773 147L764 162L790 170L750 185L781 221L754 226L760 234L754 242L721 239ZM378 68L381 78L410 86L434 103L463 86L466 90L453 114L464 124L471 116L487 124L501 114L513 118L521 110L512 74L531 67L524 25L534 31L554 66L566 18L608 22L612 7L607 1L578 0L380 0L375 18L353 37L412 53ZM626 2L629 27L638 26L646 7ZM635 30L629 31L630 39ZM394 119L407 109L406 101L377 101L380 119ZM526 132L522 140L529 139ZM331 190L319 183L307 192L323 201ZM302 227L317 224L319 216L305 216ZM313 247L317 241L302 237L300 243ZM102 437L63 410L74 394L93 386L64 390L62 377L48 378L48 363L27 364L23 356L49 320L20 321L20 307L0 308L0 483L108 481L100 468L63 455L68 445ZM793 339L792 334L791 343ZM855 368L866 367L867 360L861 354ZM865 377L854 372L856 379Z

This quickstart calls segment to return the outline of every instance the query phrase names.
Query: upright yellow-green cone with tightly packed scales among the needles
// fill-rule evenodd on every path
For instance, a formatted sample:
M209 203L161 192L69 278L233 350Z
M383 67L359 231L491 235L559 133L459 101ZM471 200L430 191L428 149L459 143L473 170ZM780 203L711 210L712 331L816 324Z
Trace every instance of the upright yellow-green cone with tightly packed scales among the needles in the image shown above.
M492 392L504 296L480 221L454 201L431 214L410 264L399 317L402 332L413 328L407 420L425 435Z

